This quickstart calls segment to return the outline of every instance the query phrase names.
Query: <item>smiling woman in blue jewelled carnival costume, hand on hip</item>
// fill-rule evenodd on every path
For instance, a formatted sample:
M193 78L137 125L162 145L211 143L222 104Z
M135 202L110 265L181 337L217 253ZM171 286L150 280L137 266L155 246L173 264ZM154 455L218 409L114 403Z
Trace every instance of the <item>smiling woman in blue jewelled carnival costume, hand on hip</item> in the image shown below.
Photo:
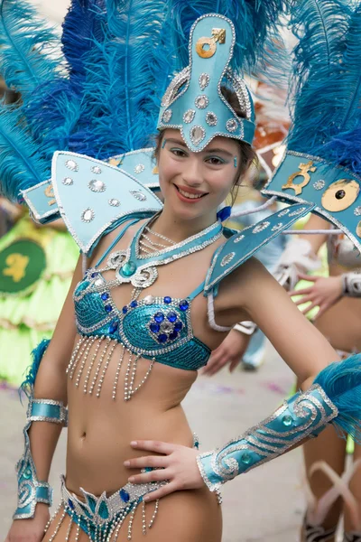
M183 4L166 5L170 18L182 18ZM258 24L254 47L264 37L261 23L272 23L282 5L252 5L228 7L245 30L246 23L253 31ZM252 48L241 44L245 35L236 39L230 18L208 13L207 3L194 7L203 13L193 14L189 46L180 35L183 47L176 48L183 68L189 65L163 96L157 126L164 205L115 165L69 150L54 154L56 206L86 258L79 259L53 338L34 353L24 385L30 401L8 542L143 535L219 542L223 483L329 423L361 437L360 358L329 365L338 360L335 350L252 257L314 204L292 205L241 233L218 220L219 205L255 158L252 99L235 71ZM113 18L108 23L115 29ZM153 36L153 18L148 24ZM134 173L144 169L137 164ZM35 217L43 216L36 197L47 183L22 192ZM301 391L244 435L199 454L180 402L210 351L245 320L273 342ZM67 421L66 476L48 521L51 457Z

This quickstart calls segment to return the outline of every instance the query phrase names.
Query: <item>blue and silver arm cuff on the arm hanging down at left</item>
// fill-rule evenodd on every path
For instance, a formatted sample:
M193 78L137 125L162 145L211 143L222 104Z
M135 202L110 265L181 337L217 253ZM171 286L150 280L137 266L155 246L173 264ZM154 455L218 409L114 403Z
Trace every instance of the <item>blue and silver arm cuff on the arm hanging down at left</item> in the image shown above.
M30 449L29 429L32 422L51 422L67 425L67 409L61 401L51 399L33 399L27 410L27 423L23 429L25 450L23 457L16 464L18 481L18 502L14 519L33 518L38 502L51 506L52 489L47 481L39 481Z

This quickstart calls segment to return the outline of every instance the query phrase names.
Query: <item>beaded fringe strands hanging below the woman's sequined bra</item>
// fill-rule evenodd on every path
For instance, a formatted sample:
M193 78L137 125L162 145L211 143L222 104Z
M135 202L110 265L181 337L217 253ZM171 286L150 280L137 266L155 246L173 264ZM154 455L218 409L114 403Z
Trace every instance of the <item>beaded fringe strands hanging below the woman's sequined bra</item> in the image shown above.
M97 355L104 341L106 341L106 344L104 345L103 350L101 350L98 360L97 360ZM147 372L145 373L144 377L142 378L140 383L135 386L134 383L135 383L135 377L136 377L137 363L138 363L138 360L140 360L141 356L135 355L131 350L128 350L127 348L125 348L124 344L119 343L116 340L112 340L110 339L110 337L106 337L105 335L102 335L101 337L83 336L77 342L75 349L71 355L68 368L66 370L67 374L69 375L69 378L71 380L75 379L75 386L77 388L79 388L80 379L87 365L87 361L89 359L89 352L93 344L95 343L96 343L96 347L91 356L87 373L84 379L84 384L83 384L84 394L93 395L93 392L94 392L97 397L100 397L103 382L104 382L104 379L106 378L106 369L108 368L110 360L112 359L112 355L113 355L114 350L116 349L116 345L121 344L122 349L121 349L119 360L116 366L116 377L113 384L112 399L116 400L116 391L117 391L117 386L118 386L120 369L122 367L122 363L125 358L125 351L126 351L128 353L128 364L125 371L124 398L125 398L125 401L129 401L129 399L131 399L134 393L138 391L140 388L142 388L143 384L148 379L153 369L154 360L151 360L149 368ZM91 382L89 382L90 373L92 369L94 368L94 364L96 360L97 360L97 367L95 369L95 373ZM78 372L76 372L77 370Z

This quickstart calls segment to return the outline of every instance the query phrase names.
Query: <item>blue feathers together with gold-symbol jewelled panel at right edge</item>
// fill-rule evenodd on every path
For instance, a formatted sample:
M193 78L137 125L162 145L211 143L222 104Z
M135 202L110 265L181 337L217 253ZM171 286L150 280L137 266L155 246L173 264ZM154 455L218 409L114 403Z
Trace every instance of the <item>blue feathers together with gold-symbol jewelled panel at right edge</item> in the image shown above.
M361 250L361 5L292 1L292 126L264 194L316 204Z

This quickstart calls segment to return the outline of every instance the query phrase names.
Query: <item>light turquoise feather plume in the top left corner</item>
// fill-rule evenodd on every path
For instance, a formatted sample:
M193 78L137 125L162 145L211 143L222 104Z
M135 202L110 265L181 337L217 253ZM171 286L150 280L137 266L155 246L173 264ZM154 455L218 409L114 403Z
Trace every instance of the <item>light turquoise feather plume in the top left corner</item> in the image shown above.
M44 81L52 79L61 60L60 40L22 0L0 2L0 72L23 101Z

